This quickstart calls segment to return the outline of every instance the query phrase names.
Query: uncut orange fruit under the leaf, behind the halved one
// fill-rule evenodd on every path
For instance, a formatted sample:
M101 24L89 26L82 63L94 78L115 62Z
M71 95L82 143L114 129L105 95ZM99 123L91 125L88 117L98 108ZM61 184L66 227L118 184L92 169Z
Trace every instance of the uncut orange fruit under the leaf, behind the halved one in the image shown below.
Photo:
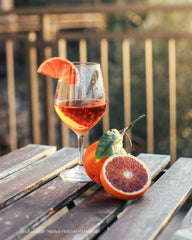
M103 163L107 158L103 158L100 161L96 162L96 151L99 141L92 143L87 150L85 151L83 158L83 165L87 175L96 183L100 184L100 172L103 166ZM121 150L121 154L127 154L124 148Z

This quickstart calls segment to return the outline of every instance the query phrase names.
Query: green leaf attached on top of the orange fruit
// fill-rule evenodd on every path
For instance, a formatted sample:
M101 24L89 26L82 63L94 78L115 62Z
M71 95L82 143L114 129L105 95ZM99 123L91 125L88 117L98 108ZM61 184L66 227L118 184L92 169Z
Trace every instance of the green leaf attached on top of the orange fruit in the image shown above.
M113 154L123 147L123 136L117 129L108 130L100 139L96 151L96 162Z

